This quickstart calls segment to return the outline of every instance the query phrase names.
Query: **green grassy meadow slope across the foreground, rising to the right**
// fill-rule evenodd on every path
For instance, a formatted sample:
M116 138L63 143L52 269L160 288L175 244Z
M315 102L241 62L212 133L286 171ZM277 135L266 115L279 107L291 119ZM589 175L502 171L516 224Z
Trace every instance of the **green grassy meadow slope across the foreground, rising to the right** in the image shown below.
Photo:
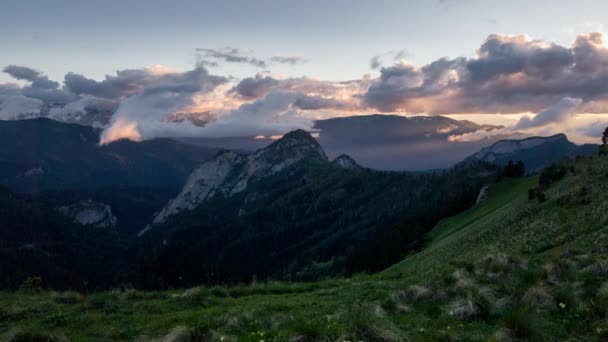
M486 201L440 222L426 248L378 274L157 292L0 292L0 337L603 341L608 158L579 160L575 170L543 203L528 200L534 177L492 186Z

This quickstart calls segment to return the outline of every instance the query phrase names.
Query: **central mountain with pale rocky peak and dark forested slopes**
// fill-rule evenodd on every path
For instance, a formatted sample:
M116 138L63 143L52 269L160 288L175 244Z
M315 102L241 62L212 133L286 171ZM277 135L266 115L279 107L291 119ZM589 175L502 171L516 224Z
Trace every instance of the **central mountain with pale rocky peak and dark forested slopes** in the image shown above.
M484 163L405 173L330 161L309 133L250 155L221 152L140 232L142 286L308 279L377 270L495 177ZM409 247L408 247L409 246Z

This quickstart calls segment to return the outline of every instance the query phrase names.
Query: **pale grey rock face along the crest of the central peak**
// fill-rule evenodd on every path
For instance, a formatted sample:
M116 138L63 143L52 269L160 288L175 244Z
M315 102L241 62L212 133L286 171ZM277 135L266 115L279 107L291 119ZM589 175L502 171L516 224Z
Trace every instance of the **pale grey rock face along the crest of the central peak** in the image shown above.
M304 159L327 161L327 156L303 130L290 132L251 155L221 152L192 172L177 197L156 214L153 224L192 210L216 195L230 197L245 190L252 179L270 176Z

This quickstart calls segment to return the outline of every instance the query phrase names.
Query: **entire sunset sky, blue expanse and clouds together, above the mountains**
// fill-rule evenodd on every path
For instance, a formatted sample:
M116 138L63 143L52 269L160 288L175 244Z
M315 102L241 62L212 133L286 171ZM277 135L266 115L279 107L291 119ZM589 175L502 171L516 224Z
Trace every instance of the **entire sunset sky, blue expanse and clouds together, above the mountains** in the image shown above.
M569 130L584 142L608 112L607 10L565 0L4 0L0 119L84 120L95 107L108 112L94 120L111 141L275 135L315 118L397 112Z

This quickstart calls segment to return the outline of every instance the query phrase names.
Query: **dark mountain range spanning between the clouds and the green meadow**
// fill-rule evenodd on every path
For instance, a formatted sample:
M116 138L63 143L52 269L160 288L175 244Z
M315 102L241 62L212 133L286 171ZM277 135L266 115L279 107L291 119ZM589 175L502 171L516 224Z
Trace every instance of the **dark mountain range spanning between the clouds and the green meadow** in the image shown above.
M376 119L385 122L362 117L344 129ZM394 130L387 126L384 139L396 142L453 123L387 120ZM456 123L451 132L477 127ZM375 271L422 246L438 220L473 205L508 160L534 173L597 148L563 135L504 140L451 168L396 172L332 156L322 134L302 130L255 152L170 139L100 146L99 133L49 119L0 122L0 268L15 275L4 286L32 274L57 287L158 288Z

